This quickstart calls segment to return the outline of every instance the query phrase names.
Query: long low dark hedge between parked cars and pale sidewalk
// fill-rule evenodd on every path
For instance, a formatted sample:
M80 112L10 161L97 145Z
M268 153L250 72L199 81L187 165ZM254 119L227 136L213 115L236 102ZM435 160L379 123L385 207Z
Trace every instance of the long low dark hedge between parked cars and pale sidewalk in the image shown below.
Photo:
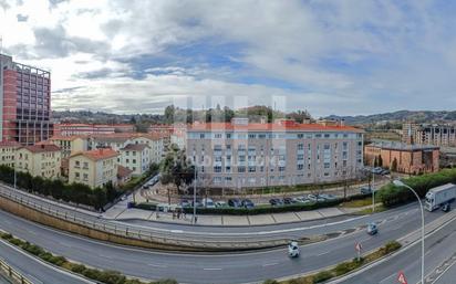
M313 203L293 203L293 204L284 204L284 206L258 206L251 209L247 208L232 208L232 207L224 207L224 208L197 208L196 212L198 214L227 214L227 215L255 215L255 214L265 214L265 213L282 213L282 212L297 212L297 211L310 211L320 208L328 208L339 206L342 202L352 201L364 199L366 196L370 194L355 194L350 196L348 198L338 198L334 200L328 200L323 202L313 202ZM134 204L135 208L143 209L143 210L152 210L155 211L157 208L157 203L152 202L144 202ZM184 212L193 213L194 209L191 207L184 208Z

